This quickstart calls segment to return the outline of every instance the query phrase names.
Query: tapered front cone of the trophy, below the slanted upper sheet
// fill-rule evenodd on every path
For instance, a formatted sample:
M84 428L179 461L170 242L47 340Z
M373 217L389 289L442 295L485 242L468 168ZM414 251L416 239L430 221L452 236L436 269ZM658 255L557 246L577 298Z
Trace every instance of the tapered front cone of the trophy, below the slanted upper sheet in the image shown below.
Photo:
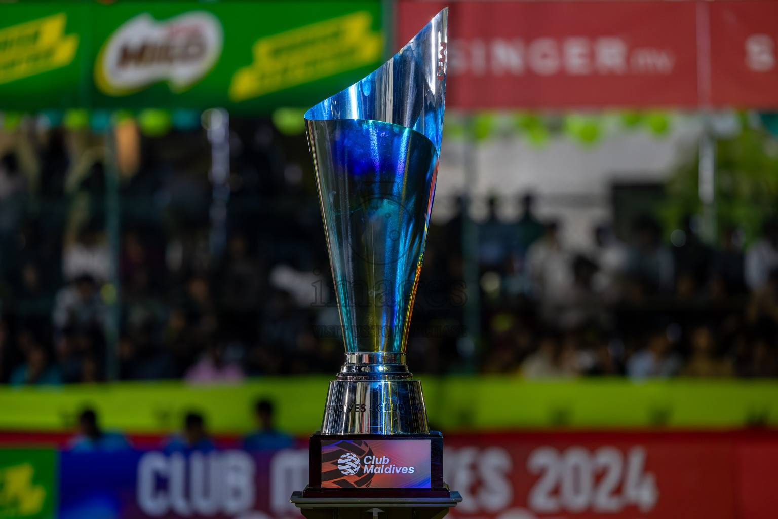
M404 352L437 153L397 124L308 121L346 350Z

